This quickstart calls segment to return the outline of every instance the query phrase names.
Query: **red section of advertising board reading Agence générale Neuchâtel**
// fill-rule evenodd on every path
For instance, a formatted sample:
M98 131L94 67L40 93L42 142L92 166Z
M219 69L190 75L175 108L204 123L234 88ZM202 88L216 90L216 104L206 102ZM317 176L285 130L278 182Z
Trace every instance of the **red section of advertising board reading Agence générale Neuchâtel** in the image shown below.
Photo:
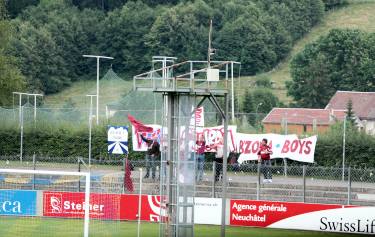
M342 205L230 200L230 225L267 227L300 214L342 207Z

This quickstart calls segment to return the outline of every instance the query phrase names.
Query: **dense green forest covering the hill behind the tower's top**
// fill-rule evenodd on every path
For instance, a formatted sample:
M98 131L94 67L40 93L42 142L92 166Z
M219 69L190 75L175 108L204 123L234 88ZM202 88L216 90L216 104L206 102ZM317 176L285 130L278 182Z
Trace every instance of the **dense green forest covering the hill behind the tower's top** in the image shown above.
M46 94L94 73L82 54L112 56L114 70L128 76L148 68L152 55L205 59L210 19L215 59L241 61L241 73L254 75L277 65L324 15L321 0L2 2L9 34L1 51L20 74L15 87Z

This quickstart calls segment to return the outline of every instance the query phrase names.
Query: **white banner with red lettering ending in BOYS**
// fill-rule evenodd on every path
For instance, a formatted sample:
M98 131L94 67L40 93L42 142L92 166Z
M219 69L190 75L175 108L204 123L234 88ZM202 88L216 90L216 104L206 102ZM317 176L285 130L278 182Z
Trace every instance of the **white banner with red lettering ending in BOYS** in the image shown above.
M268 140L274 158L289 158L299 162L314 163L316 136L299 139L297 135L279 134L236 134L237 150L241 154L238 162L257 160L262 139Z

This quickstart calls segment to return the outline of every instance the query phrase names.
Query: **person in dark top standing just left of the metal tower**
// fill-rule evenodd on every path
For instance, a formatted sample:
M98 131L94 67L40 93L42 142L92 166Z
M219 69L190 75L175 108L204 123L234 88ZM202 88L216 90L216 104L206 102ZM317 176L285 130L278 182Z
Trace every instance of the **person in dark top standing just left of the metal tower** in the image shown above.
M146 152L146 175L145 179L150 176L150 169L152 179L155 179L156 174L156 161L159 160L160 157L160 144L157 141L157 137L153 137L152 139L147 139L141 134L141 138L147 144L147 152Z

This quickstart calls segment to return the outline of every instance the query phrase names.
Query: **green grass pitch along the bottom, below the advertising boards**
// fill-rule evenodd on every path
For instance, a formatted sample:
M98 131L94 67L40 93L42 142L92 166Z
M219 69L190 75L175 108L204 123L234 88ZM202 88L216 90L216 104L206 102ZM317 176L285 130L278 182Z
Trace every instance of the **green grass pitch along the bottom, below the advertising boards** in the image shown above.
M1 237L75 237L82 236L82 220L55 219L55 218L0 218ZM157 237L159 225L154 223L142 223L141 236ZM137 236L136 222L113 222L113 221L92 221L90 224L91 237L135 237ZM196 237L220 236L220 226L197 225L195 227ZM249 227L227 227L228 237L344 237L353 236L349 234L322 233L313 231L291 231L279 229L261 229Z

